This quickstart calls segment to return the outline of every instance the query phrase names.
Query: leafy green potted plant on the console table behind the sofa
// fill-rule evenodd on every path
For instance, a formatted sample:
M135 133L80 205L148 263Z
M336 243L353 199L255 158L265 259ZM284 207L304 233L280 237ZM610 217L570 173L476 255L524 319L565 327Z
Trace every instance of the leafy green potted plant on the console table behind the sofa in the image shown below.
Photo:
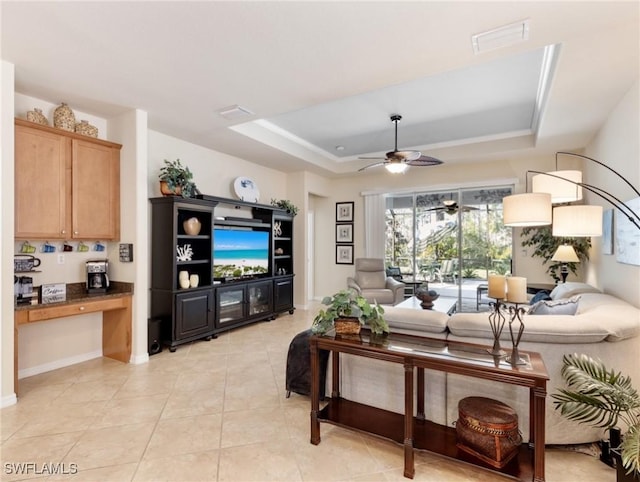
M342 290L332 296L325 296L322 304L327 308L318 312L311 325L315 334L326 333L333 327L336 327L338 333L338 325L345 318L357 326L357 331L348 330L345 333L359 333L363 325L369 325L371 331L378 335L389 333L389 325L382 316L382 306L378 303L372 305L355 290Z

